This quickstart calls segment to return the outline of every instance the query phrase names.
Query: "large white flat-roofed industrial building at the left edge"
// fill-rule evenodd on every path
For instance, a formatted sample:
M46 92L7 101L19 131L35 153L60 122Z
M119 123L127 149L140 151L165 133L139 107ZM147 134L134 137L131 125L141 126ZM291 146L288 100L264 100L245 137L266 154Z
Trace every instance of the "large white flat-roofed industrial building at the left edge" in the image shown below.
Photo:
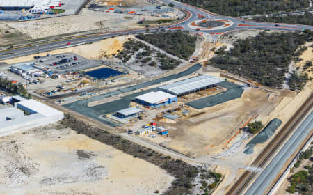
M33 99L16 102L14 108L4 109L6 112L0 115L0 137L20 130L55 123L64 118L63 112Z

